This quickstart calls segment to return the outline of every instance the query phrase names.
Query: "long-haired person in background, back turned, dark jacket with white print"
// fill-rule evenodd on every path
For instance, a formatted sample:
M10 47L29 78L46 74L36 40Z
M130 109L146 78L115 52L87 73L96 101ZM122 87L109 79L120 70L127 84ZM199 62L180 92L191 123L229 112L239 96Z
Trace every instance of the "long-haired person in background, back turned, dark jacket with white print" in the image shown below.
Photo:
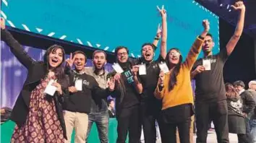
M226 83L226 102L228 104L229 116L229 133L237 134L239 143L249 143L249 139L246 135L246 125L244 122L243 102L251 103L247 101L247 98L243 101L239 93L231 83Z

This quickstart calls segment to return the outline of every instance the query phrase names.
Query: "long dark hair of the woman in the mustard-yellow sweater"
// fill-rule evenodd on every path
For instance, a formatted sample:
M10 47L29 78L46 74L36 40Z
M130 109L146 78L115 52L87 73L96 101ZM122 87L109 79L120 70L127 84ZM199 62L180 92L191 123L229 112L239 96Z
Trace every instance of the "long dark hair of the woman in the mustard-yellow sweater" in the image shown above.
M177 76L179 74L179 69L181 68L181 65L182 65L182 54L179 51L179 48L171 48L168 51L167 56L166 56L166 64L167 64L168 68L171 69L171 67L170 67L171 63L170 63L168 57L169 57L169 54L171 53L172 50L177 51L178 53L180 53L180 55L179 55L179 63L176 64L176 66L174 66L174 69L171 71L171 76L170 76L170 79L169 79L169 87L168 87L169 91L174 89L174 86L177 84Z

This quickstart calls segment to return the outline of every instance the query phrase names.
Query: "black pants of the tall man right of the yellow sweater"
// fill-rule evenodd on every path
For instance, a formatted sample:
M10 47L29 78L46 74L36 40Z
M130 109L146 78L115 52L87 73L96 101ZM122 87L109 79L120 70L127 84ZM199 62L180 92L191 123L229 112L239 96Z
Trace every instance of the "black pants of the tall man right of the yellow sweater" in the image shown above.
M228 107L226 100L215 103L196 103L197 143L206 143L209 122L213 121L218 143L229 142Z

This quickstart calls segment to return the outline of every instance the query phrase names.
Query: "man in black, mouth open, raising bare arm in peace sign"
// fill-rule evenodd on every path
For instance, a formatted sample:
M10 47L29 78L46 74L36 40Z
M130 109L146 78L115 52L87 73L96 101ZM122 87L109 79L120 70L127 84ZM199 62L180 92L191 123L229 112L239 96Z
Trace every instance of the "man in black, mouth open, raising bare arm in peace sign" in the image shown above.
M158 114L161 111L161 100L158 100L154 96L155 87L158 83L158 77L161 69L158 64L163 62L166 58L166 10L158 9L162 17L162 35L161 32L157 32L153 43L145 43L142 45L142 58L137 62L138 65L145 64L146 74L139 75L140 82L142 84L142 94L140 101L140 119L142 123L143 135L145 143L155 143L156 129L155 122L158 119ZM156 45L161 38L161 50L160 55L156 61L153 60L155 56ZM158 123L161 129L161 123Z

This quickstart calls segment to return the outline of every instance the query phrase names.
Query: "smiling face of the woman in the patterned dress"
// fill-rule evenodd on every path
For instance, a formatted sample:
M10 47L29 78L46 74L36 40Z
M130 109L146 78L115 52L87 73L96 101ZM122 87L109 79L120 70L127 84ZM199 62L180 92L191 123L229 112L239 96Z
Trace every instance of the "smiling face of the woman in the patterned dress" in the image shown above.
M61 48L54 48L48 55L48 65L51 68L58 67L64 58L64 53Z

